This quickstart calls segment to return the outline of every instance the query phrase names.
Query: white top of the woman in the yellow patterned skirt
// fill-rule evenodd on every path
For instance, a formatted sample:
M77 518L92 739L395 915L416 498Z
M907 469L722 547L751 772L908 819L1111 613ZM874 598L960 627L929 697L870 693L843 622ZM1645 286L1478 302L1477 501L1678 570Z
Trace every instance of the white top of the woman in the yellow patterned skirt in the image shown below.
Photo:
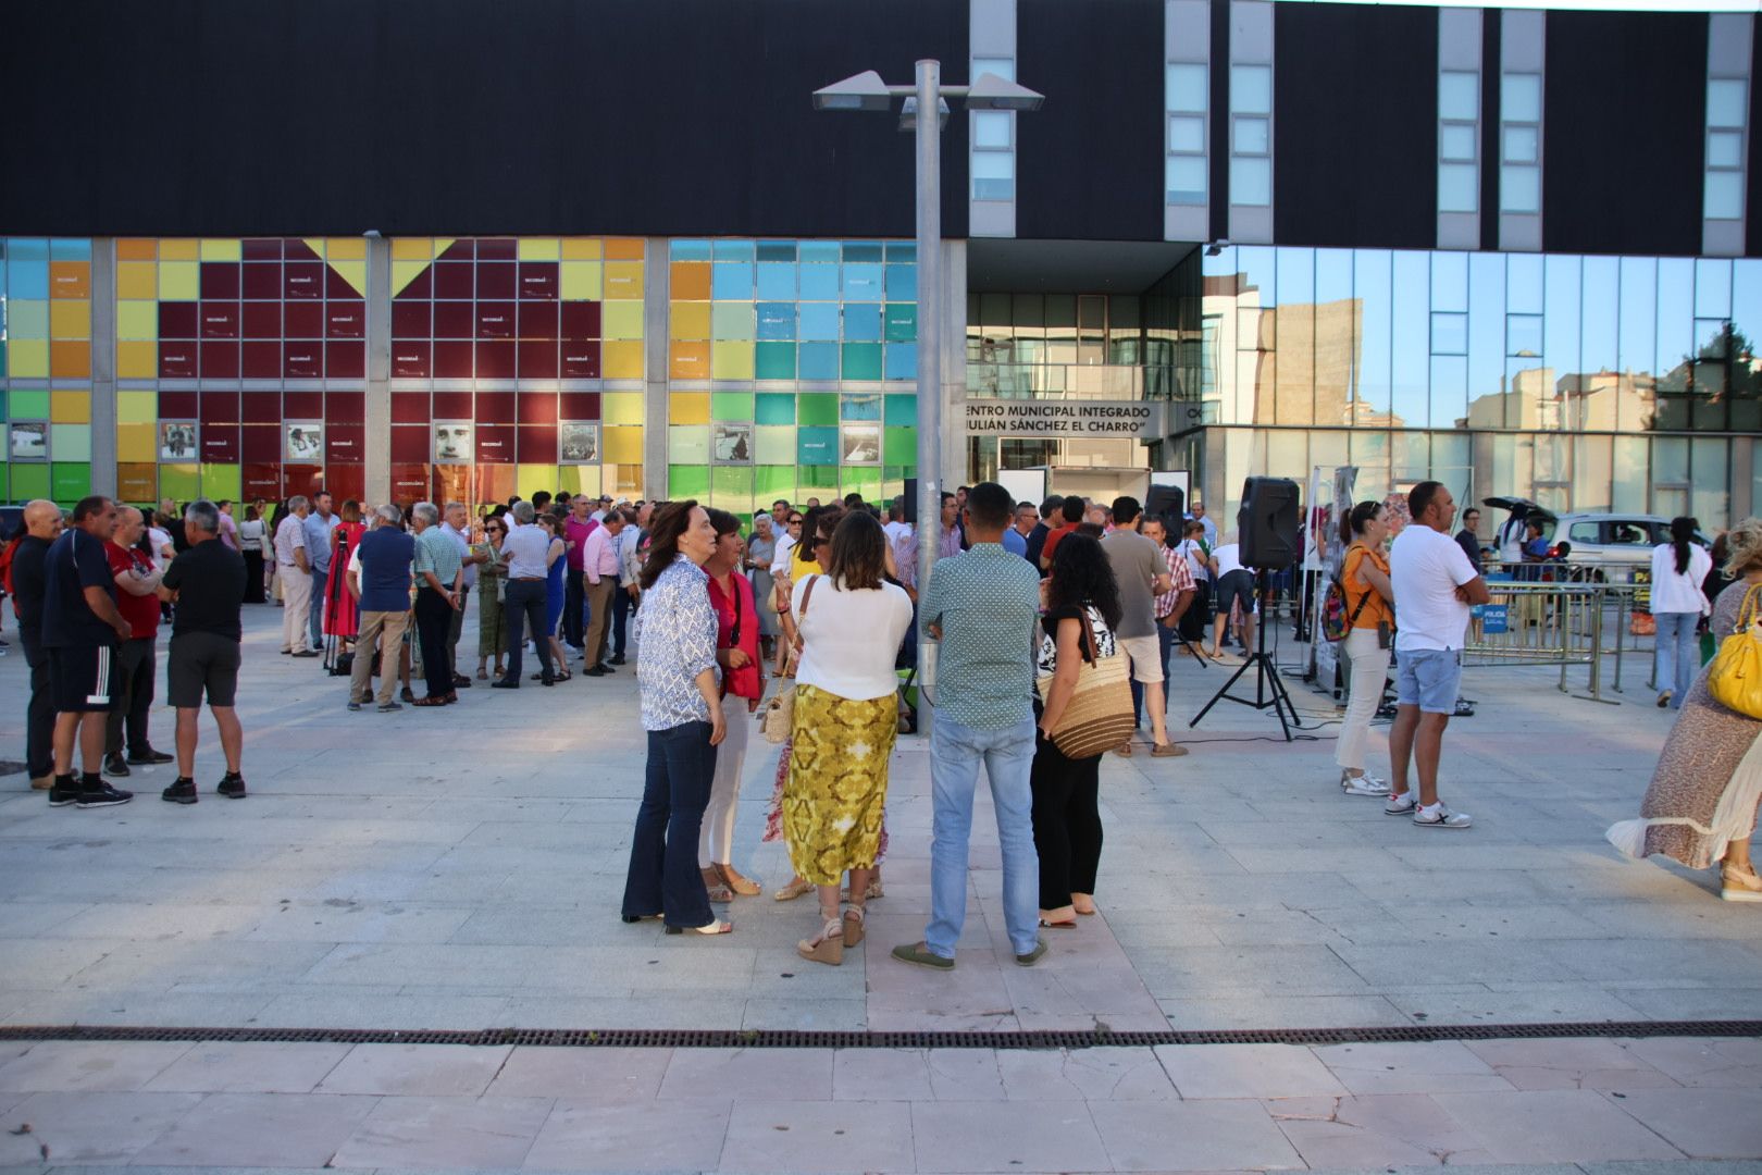
M814 599L802 615L802 597ZM881 590L839 592L823 574L802 576L789 606L802 625L798 685L814 685L849 701L886 698L899 689L893 661L911 627L911 597L883 583Z

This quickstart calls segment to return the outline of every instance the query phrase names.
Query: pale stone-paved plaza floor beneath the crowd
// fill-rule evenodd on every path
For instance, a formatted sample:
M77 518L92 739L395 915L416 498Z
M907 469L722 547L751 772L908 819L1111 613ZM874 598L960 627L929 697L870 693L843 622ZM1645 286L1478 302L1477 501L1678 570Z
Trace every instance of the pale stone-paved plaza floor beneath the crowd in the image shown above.
M951 974L895 964L929 905L929 757L904 738L886 897L842 967L795 953L812 898L740 898L735 934L626 927L641 787L631 668L462 705L344 710L247 610L252 794L51 810L0 777L0 1024L211 1029L1131 1032L1762 1018L1762 907L1619 858L1670 713L1558 673L1470 669L1445 798L1468 831L1339 794L1336 726L1286 745L1177 659L1181 759L1108 756L1098 918L1010 958L990 805ZM467 625L463 648L476 648ZM1283 661L1297 659L1286 645ZM474 666L474 659L469 659ZM160 671L162 673L162 671ZM1582 671L1575 671L1575 676ZM1332 703L1293 682L1306 724ZM23 757L23 657L0 713ZM1621 698L1621 694L1609 694ZM171 747L171 713L153 713ZM1381 729L1373 754L1381 754ZM754 738L737 865L777 752ZM125 786L130 786L125 784ZM840 1105L856 1103L856 1105ZM4 1041L0 1166L1105 1171L1762 1157L1762 1041L1575 1038L1144 1048L465 1048ZM1570 1168L1568 1168L1570 1170ZM1639 1170L1639 1168L1621 1168ZM1723 1168L1721 1168L1723 1170Z

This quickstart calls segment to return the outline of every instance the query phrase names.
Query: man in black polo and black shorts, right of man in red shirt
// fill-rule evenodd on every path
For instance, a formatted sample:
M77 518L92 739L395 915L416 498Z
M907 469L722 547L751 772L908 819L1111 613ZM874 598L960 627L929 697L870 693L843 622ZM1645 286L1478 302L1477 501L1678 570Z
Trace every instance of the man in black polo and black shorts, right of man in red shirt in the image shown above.
M196 715L208 694L226 775L217 789L227 800L245 798L240 754L245 728L233 710L238 692L240 606L245 602L245 558L220 537L220 509L203 499L183 514L190 546L166 567L160 599L173 601L171 654L166 659L166 699L178 710L178 779L160 793L171 803L196 803Z

